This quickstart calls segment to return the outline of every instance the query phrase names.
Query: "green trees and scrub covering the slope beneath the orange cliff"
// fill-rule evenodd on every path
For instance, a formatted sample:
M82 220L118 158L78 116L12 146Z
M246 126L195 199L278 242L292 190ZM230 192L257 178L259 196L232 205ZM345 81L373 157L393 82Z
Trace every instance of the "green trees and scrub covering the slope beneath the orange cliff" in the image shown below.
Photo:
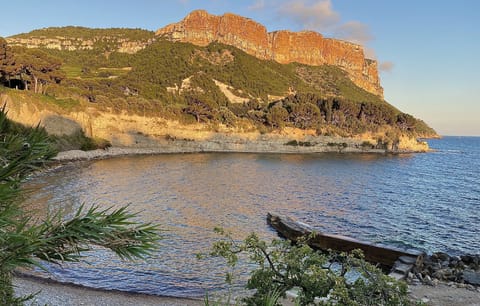
M39 33L77 35L81 39L101 34L132 40L153 37L152 32L142 30L79 27L49 28L21 35ZM20 47L7 49L15 54L30 52ZM40 52L62 63L55 70L62 78L49 82L44 90L46 95L90 103L99 110L149 114L183 123L204 122L212 127L246 124L262 132L292 126L314 129L319 135L436 135L423 121L357 87L345 71L335 66L282 65L259 60L228 45L212 43L199 47L161 39L136 54L50 49ZM32 83L28 73L15 75L1 67L5 65L0 66L0 81L4 85L8 86L7 80L12 78L20 78L27 85ZM246 101L230 102L215 81Z

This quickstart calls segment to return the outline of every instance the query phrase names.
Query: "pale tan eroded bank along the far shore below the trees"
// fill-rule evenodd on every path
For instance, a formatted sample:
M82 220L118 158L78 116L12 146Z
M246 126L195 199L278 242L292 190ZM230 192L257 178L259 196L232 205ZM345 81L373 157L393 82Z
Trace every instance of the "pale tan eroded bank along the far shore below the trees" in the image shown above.
M358 137L318 136L315 130L286 127L263 134L218 126L212 130L204 124L184 125L178 121L134 114L101 112L95 108L62 112L47 105L35 105L8 95L0 95L8 117L27 126L38 123L49 134L63 136L79 132L92 138L108 140L114 148L85 153L74 151L60 159L92 159L125 154L249 152L249 153L409 153L426 152L426 142L400 137L388 147L378 144L375 134Z

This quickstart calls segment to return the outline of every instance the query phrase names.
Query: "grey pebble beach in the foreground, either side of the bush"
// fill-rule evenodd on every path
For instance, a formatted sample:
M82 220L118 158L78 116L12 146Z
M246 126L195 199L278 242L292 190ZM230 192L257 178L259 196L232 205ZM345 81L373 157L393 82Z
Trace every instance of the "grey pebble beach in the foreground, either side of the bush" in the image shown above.
M28 305L40 306L197 306L205 305L203 300L182 297L168 297L149 295L144 293L125 292L119 290L105 290L85 287L72 283L62 283L53 279L46 279L25 272L14 276L16 296L38 294L29 300ZM408 284L409 296L414 301L421 301L431 306L480 306L480 288L470 290L460 288L450 283L439 282L435 285L418 283Z

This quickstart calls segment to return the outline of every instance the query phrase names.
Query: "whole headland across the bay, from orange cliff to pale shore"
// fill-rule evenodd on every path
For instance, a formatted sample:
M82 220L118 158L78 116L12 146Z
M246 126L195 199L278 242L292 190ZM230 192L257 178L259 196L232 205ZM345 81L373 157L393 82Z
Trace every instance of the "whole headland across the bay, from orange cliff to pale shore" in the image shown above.
M7 42L20 53L53 52L62 75L45 81L44 96L2 76L12 88L0 93L10 119L58 137L106 140L117 151L425 152L416 138L435 135L383 100L377 63L360 45L313 31L267 32L235 14L197 10L155 33L45 28ZM86 64L84 52L98 54Z

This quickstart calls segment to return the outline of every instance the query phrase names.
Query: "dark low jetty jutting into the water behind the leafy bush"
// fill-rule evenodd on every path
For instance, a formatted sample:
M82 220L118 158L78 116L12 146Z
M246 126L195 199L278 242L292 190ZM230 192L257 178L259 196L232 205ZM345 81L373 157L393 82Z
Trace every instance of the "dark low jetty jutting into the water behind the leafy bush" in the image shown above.
M314 249L335 250L350 252L360 249L365 259L372 263L379 263L391 268L390 275L397 279L403 279L414 266L420 266L425 256L424 252L418 250L404 250L386 245L374 244L367 241L360 241L342 235L326 234L314 231L310 226L295 221L286 216L269 213L267 222L285 238L298 241L305 239L309 246ZM312 235L312 233L314 233Z

